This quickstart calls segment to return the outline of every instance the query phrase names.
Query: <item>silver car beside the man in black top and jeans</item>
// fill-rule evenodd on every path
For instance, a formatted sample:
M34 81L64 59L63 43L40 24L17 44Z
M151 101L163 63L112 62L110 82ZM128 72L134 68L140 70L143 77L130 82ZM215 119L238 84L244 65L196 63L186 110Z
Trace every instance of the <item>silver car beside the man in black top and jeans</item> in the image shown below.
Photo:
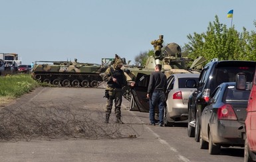
M168 77L164 126L188 119L188 97L195 91L199 73L177 73Z

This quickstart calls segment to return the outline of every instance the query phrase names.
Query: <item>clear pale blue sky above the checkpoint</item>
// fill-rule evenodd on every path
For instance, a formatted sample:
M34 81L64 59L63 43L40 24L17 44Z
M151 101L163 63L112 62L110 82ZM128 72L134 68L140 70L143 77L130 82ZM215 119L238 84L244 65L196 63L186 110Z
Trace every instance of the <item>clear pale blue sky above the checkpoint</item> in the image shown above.
M241 32L256 30L256 0L0 0L0 53L17 53L22 64L101 58L131 60L154 50L150 42L188 43L209 22Z

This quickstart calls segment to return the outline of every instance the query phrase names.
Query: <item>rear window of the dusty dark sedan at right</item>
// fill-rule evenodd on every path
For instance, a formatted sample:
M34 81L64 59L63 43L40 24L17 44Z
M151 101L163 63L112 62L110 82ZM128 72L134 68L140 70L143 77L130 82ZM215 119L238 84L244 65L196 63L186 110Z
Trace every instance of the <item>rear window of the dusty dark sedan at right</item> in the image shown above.
M225 101L248 101L250 95L249 90L238 90L235 86L227 87L224 95Z

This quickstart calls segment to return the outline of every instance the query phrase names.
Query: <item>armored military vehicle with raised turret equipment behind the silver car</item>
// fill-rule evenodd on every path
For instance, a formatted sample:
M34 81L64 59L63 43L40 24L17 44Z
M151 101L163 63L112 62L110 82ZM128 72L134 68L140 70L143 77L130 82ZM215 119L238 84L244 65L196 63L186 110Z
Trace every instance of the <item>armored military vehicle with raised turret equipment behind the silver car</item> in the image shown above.
M136 81L136 84L140 83L140 80L143 79L144 76L150 75L150 73L154 71L156 64L162 65L162 72L167 78L174 73L200 73L201 69L203 68L202 63L206 61L205 58L199 57L196 60L191 60L183 57L182 49L176 43L167 44L167 46L163 48L163 38L164 36L160 35L158 40L153 40L151 42L151 44L154 46L154 56L150 56L146 60L144 67L124 67L124 72L132 73L136 76L134 80ZM188 67L189 62L193 62L190 67ZM136 93L133 93L130 87L124 87L123 95L125 99L130 101L130 110L136 110L136 105L134 102L134 96Z

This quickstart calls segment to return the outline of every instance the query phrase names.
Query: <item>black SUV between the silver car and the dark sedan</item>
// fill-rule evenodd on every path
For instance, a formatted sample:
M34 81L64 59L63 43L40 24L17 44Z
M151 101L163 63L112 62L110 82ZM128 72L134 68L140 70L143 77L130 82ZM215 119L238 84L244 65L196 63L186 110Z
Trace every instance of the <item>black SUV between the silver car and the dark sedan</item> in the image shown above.
M199 75L197 88L188 101L188 136L195 137L199 142L200 117L203 108L207 106L213 90L223 82L235 81L237 73L245 73L247 81L253 81L256 61L218 61L211 60ZM198 99L205 99L205 104L197 104Z

